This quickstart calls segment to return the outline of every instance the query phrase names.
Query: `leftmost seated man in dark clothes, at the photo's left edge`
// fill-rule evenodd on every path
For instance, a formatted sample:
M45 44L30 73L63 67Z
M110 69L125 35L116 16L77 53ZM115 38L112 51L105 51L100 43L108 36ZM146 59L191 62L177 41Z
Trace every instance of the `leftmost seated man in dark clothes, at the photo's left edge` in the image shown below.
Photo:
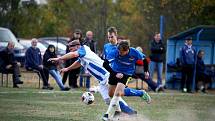
M20 71L19 67L21 64L14 58L14 43L8 42L7 47L0 52L1 65L0 68L3 72L13 74L13 88L19 88L17 84L23 84L23 81L19 79Z

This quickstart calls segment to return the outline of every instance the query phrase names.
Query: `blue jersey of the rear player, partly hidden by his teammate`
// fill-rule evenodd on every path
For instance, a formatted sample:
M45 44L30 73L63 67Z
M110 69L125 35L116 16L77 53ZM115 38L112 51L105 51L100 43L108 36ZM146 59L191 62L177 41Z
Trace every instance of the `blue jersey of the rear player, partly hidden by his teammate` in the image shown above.
M109 55L109 53L113 50L117 50L117 46L113 45L111 43L107 43L104 45L104 50L103 50L103 58L107 59L109 62L111 61L112 57Z

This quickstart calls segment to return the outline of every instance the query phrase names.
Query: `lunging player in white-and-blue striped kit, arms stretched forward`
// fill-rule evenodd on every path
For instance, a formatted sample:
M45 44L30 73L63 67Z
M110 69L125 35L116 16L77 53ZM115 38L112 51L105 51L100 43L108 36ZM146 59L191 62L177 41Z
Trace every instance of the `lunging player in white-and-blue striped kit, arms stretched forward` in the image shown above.
M49 61L68 60L78 57L78 60L67 68L61 69L61 72L67 72L84 66L87 71L99 81L99 92L106 104L110 103L110 96L108 95L108 78L109 72L103 67L103 60L96 55L86 45L81 46L79 40L73 40L69 43L71 52L58 57L51 58Z

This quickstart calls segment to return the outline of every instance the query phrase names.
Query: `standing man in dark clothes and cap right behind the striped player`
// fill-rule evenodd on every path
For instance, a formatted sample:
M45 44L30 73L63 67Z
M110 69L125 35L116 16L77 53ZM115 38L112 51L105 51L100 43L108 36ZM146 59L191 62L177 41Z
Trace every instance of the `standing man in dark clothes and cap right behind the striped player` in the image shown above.
M72 37L70 38L69 42L78 39L80 42L82 42L82 32L80 29L76 29L75 32L73 33ZM69 43L68 42L68 43ZM66 47L66 53L69 53L69 45L67 45ZM66 61L66 65L65 67L69 67L70 65L72 65L78 58L72 58ZM80 73L80 68L74 69L74 70L70 70L68 72L65 72L63 74L63 84L66 83L67 77L69 75L69 86L72 88L78 88L77 85L77 79L78 79L78 74Z

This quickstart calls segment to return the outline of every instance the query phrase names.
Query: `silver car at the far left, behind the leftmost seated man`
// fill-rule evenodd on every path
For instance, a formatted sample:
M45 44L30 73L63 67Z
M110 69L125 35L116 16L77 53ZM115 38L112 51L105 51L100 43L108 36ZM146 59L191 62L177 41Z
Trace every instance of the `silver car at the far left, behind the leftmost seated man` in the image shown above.
M25 61L25 48L18 42L14 34L9 29L0 27L0 50L7 47L8 41L14 42L15 59L23 65Z

